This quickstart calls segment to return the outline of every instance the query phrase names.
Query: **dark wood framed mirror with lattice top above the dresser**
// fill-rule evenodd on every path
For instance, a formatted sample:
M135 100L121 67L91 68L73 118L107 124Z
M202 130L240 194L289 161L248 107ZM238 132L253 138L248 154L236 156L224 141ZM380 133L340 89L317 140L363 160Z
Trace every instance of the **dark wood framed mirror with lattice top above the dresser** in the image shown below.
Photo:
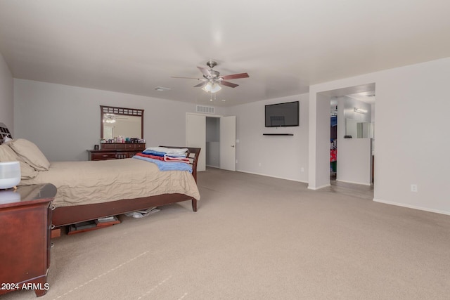
M143 138L143 110L100 105L100 138Z

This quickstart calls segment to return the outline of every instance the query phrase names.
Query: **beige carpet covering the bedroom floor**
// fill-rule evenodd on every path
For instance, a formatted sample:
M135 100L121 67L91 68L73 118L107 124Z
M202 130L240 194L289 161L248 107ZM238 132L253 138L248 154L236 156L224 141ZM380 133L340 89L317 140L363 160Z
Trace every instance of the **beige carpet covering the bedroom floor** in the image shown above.
M199 187L196 213L173 204L53 240L41 299L450 298L450 216L218 169Z

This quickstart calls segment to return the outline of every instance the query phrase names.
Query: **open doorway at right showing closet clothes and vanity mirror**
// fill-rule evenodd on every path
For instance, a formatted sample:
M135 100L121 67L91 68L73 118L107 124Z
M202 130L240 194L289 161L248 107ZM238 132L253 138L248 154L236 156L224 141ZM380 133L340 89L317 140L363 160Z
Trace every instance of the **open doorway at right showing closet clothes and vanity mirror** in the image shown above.
M330 183L372 185L375 84L321 95L330 101Z

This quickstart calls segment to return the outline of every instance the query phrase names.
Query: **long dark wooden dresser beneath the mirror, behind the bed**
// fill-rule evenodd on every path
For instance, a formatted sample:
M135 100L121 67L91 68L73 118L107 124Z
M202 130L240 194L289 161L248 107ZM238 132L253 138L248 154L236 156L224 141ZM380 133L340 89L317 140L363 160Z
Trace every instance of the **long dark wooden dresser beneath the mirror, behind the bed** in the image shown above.
M145 143L103 143L99 150L88 150L89 160L131 158L146 150Z

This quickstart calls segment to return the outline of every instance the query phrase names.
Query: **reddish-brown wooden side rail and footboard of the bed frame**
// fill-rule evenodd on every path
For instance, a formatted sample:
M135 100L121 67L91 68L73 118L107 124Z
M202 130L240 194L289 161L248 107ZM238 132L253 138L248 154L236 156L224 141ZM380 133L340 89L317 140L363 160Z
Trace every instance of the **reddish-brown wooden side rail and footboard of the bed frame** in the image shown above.
M161 146L166 148L180 148L171 146ZM181 147L183 148L183 147ZM197 182L197 162L200 155L200 148L189 148L189 156L192 158L192 175ZM148 209L191 200L193 211L197 211L197 200L183 194L163 194L158 196L142 197L135 199L124 199L112 202L76 205L70 207L57 207L53 210L52 222L56 227L65 226L82 221L89 221L105 216L115 216L130 211Z

